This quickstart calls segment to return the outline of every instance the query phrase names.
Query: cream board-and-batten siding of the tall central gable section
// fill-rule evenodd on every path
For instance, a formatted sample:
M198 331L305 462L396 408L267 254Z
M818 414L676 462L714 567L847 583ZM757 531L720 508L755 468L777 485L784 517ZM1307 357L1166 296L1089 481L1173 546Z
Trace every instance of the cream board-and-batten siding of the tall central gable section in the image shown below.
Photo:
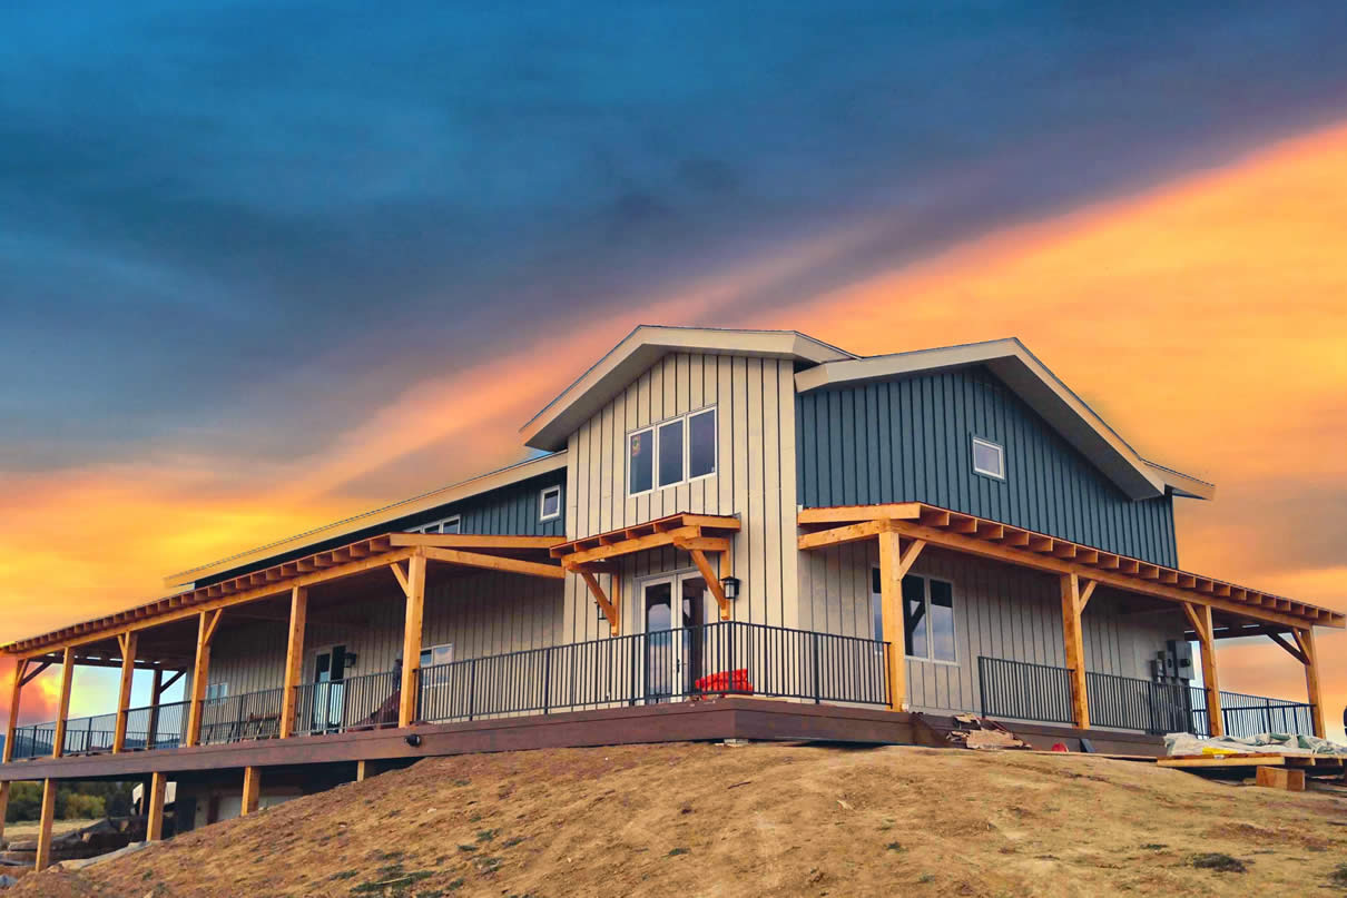
M717 409L715 474L641 495L626 493L628 435L702 408ZM737 621L797 626L795 549L795 366L788 359L671 353L614 396L568 440L566 521L570 539L668 514L738 516ZM690 567L684 553L622 560L622 633L645 629L638 578ZM713 565L717 556L709 556ZM727 569L718 571L727 575ZM601 576L605 588L609 578ZM609 635L578 576L566 579L564 642Z

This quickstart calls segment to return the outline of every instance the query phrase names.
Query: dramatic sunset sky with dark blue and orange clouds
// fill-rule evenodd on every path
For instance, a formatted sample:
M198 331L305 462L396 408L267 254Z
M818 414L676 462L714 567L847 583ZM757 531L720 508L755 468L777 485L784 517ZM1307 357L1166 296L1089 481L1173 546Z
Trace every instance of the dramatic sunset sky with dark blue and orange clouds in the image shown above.
M1020 337L1218 485L1185 569L1347 610L1340 4L484 5L0 8L0 641L517 460L643 322Z

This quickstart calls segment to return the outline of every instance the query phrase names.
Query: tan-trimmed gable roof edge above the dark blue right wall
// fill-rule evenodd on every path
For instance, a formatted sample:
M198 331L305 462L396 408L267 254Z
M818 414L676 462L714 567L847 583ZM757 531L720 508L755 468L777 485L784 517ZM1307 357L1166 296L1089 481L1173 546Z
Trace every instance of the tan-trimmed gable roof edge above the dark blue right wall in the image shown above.
M1149 462L1053 374L1014 337L962 346L943 346L892 355L831 361L796 373L800 393L863 384L904 374L983 365L1041 415L1063 438L1099 467L1133 499L1156 498L1171 489L1210 499L1216 487Z

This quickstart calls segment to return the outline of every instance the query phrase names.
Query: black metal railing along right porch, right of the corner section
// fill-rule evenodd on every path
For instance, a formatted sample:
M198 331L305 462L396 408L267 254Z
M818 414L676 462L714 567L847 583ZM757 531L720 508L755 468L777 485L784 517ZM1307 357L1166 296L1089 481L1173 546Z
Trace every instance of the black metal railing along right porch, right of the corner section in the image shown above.
M987 716L1074 723L1067 668L979 657L978 679ZM1086 696L1091 726L1211 735L1202 687L1087 672ZM1303 701L1222 691L1220 711L1226 735L1313 732L1312 707Z

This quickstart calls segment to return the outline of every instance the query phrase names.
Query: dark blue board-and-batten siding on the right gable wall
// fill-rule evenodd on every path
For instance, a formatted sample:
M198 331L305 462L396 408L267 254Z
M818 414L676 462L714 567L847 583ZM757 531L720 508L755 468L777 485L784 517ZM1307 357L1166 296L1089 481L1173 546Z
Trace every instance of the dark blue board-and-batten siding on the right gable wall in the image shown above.
M929 502L1179 565L1171 495L1133 501L985 368L799 396L807 508ZM1005 447L1006 479L973 471L973 438Z

